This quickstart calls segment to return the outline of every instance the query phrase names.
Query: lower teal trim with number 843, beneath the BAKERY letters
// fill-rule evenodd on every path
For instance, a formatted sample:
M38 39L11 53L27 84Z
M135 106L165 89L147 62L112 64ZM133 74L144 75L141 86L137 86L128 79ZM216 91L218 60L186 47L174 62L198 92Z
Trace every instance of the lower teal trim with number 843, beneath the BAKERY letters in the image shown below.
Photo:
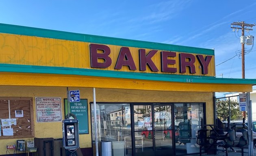
M107 70L98 70L98 69L46 67L46 66L35 66L35 65L0 64L0 72L63 74L63 75L96 76L96 77L106 77L106 78L126 78L126 79L137 79L137 80L154 80L154 81L185 82L185 83L243 84L243 85L256 84L256 79L215 78L211 76L118 72L118 71L107 71Z

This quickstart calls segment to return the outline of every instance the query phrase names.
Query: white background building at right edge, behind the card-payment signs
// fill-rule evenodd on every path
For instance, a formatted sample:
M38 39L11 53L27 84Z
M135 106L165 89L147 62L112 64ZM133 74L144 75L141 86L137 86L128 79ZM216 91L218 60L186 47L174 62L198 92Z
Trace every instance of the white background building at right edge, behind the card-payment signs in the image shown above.
M230 97L230 96L236 96L230 98L231 100L237 100L239 101L239 93L228 93L225 94L225 97ZM252 100L252 120L256 121L256 89L253 89L252 92L250 92L250 100Z

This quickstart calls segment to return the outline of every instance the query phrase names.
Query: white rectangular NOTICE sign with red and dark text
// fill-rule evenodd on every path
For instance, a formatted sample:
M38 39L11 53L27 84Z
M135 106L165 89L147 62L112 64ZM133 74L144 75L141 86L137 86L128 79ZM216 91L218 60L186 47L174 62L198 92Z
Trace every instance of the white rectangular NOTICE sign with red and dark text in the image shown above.
M62 121L61 98L35 98L37 122Z

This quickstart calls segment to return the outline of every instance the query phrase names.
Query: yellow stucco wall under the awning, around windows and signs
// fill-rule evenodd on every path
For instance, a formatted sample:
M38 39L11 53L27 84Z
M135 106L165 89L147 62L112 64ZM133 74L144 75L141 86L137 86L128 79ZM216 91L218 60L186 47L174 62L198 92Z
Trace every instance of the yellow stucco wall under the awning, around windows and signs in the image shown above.
M93 89L84 87L69 87L69 90L79 89L81 98L93 102ZM35 97L61 97L62 117L64 117L64 98L67 97L66 87L29 87L0 86L0 97L32 97L35 110ZM213 93L211 92L174 92L145 91L130 89L100 89L96 88L97 102L206 102L207 124L213 124ZM90 105L88 104L90 110ZM34 111L35 137L54 139L62 138L62 123L37 123ZM91 115L89 113L89 134L79 136L80 147L91 147ZM0 139L0 155L5 154L6 144L17 139ZM27 139L25 139L27 140Z

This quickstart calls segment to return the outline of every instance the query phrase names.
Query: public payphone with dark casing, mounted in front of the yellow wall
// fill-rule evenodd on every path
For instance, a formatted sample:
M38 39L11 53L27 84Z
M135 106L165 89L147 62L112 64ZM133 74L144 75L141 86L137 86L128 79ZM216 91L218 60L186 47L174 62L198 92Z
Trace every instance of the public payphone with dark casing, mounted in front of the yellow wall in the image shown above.
M62 121L63 147L65 149L79 148L78 119L65 119Z

